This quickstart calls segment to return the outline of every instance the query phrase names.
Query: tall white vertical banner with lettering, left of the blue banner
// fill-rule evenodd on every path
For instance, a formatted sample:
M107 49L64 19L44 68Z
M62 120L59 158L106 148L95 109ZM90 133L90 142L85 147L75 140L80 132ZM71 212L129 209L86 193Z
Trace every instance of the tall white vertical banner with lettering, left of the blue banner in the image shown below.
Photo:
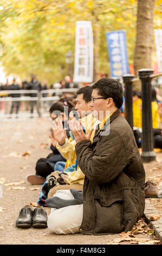
M91 21L76 21L73 82L93 82L93 31Z

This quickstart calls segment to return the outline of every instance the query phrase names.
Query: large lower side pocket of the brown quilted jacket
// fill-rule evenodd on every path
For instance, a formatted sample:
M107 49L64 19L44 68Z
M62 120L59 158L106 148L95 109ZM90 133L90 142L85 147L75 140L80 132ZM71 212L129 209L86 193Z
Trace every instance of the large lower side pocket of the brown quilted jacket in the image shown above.
M96 209L95 233L121 233L123 225L123 198L94 198Z

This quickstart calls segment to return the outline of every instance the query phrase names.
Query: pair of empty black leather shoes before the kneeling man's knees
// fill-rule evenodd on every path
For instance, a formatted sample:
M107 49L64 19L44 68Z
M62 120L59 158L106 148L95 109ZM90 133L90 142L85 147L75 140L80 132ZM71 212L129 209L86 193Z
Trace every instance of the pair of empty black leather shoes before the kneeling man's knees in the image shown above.
M16 220L16 226L19 228L26 227L47 228L47 213L42 206L37 206L34 210L30 205L25 205Z

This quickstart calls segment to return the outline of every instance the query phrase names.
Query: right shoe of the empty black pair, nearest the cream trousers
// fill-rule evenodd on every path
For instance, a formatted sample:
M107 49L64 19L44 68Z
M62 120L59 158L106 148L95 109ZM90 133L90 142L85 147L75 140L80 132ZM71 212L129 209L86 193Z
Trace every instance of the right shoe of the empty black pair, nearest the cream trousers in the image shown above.
M47 213L42 206L37 206L33 211L33 227L47 228Z

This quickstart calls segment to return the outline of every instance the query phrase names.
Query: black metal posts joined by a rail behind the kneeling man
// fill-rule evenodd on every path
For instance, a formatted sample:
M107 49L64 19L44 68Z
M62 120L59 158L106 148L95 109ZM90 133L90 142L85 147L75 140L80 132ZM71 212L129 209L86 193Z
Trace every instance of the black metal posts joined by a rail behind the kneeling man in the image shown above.
M151 69L140 69L138 71L139 78L134 75L124 75L123 82L125 83L125 118L133 130L133 83L141 81L141 96L142 96L142 153L141 159L143 162L151 162L155 160L156 155L153 151L153 132L152 132L152 106L151 106L151 80L155 77L162 76L162 73L153 74Z

